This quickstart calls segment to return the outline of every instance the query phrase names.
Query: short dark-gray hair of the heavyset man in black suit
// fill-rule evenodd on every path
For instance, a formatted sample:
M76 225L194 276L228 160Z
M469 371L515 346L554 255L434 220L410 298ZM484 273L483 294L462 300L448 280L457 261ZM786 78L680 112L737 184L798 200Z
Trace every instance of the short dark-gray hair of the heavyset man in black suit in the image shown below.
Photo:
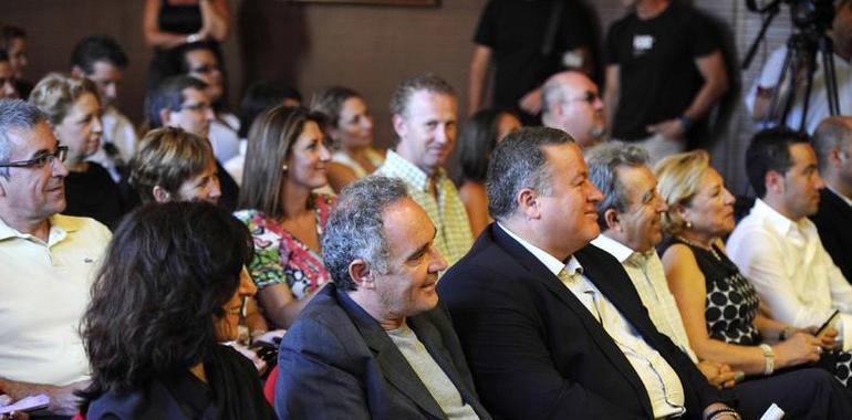
M550 167L544 146L574 143L565 132L548 127L521 128L502 140L491 155L486 175L488 212L503 220L518 209L516 196L523 188L550 193Z

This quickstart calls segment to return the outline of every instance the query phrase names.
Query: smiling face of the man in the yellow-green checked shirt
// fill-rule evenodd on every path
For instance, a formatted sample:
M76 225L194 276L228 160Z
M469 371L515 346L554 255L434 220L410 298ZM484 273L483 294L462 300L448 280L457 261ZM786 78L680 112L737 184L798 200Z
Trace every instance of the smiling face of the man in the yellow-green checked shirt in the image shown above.
M428 175L447 161L456 141L455 97L417 91L408 98L404 115L393 118L399 156Z

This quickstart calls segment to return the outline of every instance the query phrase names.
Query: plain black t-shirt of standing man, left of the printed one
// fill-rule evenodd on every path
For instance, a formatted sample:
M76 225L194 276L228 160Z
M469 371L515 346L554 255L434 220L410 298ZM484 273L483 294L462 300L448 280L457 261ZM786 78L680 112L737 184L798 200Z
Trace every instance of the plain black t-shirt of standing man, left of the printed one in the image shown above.
M554 2L562 1L562 18L551 52L542 55ZM569 0L490 0L486 4L474 42L488 46L495 63L493 102L517 109L518 101L563 70L565 52L591 45L585 10Z

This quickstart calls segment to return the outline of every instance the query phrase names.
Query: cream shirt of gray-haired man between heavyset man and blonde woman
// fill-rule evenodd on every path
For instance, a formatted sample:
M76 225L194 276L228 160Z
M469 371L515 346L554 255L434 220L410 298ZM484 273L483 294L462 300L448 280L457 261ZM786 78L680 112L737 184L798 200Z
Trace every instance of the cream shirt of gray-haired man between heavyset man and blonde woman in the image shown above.
M672 342L686 353L693 363L698 363L698 357L689 346L689 337L684 328L684 319L677 311L677 302L668 288L666 272L663 262L659 261L656 250L636 252L621 242L605 235L599 235L592 244L609 252L614 256L624 271L627 272L636 292L642 298L642 304L648 309L651 321L661 333L672 338Z

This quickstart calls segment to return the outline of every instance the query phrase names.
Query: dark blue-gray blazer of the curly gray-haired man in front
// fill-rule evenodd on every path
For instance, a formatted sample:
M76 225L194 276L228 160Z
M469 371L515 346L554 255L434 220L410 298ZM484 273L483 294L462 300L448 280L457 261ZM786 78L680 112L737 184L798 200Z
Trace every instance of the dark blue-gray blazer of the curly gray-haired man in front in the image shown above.
M408 317L435 361L480 419L491 417L446 308ZM276 411L281 419L445 419L391 337L346 293L329 284L284 335Z

